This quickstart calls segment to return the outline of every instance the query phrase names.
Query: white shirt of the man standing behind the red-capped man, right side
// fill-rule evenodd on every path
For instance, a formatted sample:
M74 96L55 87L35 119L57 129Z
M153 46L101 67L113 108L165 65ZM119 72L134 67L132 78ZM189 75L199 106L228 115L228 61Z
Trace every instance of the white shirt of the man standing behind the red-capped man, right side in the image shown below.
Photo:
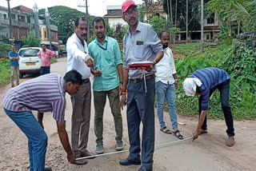
M156 78L155 82L162 82L165 84L174 84L173 74L176 74L174 57L170 48L164 49L163 58L155 65Z

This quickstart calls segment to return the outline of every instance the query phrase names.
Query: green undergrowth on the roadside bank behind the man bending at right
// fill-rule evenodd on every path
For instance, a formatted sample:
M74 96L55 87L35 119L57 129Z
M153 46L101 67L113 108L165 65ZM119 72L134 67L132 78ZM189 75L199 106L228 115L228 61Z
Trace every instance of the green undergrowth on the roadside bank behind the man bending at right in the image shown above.
M233 117L238 120L256 119L256 59L250 49L242 47L234 54L234 45L221 45L205 48L202 54L198 52L198 44L192 43L176 45L173 49L176 53L186 52L185 58L175 61L181 86L184 79L195 70L210 66L227 70L231 77L230 107ZM198 117L198 97L187 97L182 88L176 91L176 105L178 112ZM218 91L210 97L207 116L224 118Z

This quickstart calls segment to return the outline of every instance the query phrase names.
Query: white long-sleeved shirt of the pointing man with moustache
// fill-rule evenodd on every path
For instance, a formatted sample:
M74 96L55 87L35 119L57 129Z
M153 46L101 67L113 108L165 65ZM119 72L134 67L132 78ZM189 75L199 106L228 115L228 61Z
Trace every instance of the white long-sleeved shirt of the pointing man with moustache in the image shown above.
M66 42L67 71L77 70L82 74L82 79L90 78L90 67L86 66L86 56L89 55L86 41L84 46L77 34L72 34Z

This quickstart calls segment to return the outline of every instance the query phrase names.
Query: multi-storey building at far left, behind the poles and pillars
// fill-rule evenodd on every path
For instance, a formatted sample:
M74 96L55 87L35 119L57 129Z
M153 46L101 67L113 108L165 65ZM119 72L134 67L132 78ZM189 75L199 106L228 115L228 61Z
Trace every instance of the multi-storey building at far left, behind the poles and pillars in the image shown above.
M17 48L22 46L22 36L28 36L30 32L34 30L34 10L27 8L26 6L16 6L11 9L12 18L12 33L13 38L10 38L10 20L8 15L8 8L0 6L0 39L3 42L14 42ZM46 46L50 46L47 30L46 30L46 18L39 16L39 33ZM58 26L50 25L51 43L53 50L58 50Z

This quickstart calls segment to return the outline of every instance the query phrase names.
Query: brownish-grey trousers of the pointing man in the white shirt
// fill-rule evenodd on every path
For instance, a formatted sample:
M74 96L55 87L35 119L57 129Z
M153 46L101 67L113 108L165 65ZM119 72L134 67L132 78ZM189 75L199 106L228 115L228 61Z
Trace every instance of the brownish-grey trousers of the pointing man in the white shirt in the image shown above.
M86 150L90 129L90 82L82 83L71 96L73 107L71 121L71 145L75 154Z

